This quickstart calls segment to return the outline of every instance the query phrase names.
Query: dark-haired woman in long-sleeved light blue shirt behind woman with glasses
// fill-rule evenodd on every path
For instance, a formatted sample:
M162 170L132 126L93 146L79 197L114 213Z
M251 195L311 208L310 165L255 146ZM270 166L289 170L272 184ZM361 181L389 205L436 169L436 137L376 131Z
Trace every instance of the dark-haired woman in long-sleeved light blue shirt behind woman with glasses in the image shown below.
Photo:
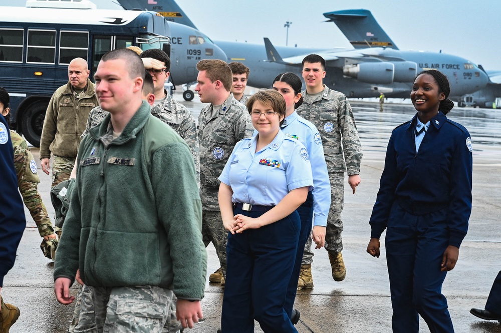
M301 233L298 242L298 252L294 263L294 270L287 290L285 309L293 322L299 320L299 311L293 310L294 299L298 286L299 272L305 243L311 242L308 237L312 232L312 239L319 249L324 246L327 214L331 205L331 184L327 164L325 163L322 139L315 125L300 117L296 109L303 104L301 96L301 79L294 73L282 73L273 81L273 89L277 90L285 99L286 118L281 126L286 136L297 139L305 145L313 173L314 190L308 192L308 198L298 208L301 218ZM315 218L313 218L315 216Z

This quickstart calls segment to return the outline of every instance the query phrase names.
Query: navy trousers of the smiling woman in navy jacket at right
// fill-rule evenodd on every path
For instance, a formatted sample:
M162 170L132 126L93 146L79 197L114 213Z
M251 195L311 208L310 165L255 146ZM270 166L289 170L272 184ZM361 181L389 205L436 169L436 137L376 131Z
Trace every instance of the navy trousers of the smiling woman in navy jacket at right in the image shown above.
M446 213L416 216L393 204L385 245L394 333L417 333L418 314L432 333L454 331L441 293L446 272L440 265L449 239Z

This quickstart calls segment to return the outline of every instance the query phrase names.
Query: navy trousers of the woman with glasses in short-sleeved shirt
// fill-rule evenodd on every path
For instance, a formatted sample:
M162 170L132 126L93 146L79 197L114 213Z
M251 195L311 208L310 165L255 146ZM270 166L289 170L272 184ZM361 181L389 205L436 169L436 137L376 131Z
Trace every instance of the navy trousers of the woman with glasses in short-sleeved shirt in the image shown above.
M259 217L261 212L234 208ZM241 234L228 232L226 284L222 301L223 333L254 333L256 319L265 333L296 332L284 309L298 249L301 221L297 211L275 223Z

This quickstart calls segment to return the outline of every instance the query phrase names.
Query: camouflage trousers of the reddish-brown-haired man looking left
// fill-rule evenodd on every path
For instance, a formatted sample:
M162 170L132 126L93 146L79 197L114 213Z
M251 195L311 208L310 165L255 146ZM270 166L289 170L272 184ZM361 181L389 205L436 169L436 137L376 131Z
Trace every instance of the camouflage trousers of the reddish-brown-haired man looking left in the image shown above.
M220 211L202 211L202 240L205 247L210 242L214 245L221 265L222 273L226 276L226 243L228 242L228 231L222 224Z

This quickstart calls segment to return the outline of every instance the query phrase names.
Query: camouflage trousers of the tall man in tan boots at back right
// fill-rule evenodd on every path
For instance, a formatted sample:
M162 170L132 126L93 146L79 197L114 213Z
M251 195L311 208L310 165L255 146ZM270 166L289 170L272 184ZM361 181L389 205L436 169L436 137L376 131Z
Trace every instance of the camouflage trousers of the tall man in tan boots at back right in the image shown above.
M341 221L341 212L344 203L344 172L329 173L331 181L331 207L327 215L327 228L325 230L325 249L328 252L339 253L343 250L343 241L341 232L343 231L343 221ZM311 250L312 238L308 237L303 253L302 265L313 262L313 252Z

